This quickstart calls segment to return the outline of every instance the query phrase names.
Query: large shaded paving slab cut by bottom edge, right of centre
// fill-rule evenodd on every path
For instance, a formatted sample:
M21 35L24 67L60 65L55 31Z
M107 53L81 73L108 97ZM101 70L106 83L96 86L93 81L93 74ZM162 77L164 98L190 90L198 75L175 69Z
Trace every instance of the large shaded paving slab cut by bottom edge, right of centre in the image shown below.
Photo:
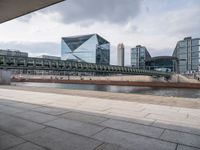
M105 129L93 138L134 150L175 150L176 144L114 129Z

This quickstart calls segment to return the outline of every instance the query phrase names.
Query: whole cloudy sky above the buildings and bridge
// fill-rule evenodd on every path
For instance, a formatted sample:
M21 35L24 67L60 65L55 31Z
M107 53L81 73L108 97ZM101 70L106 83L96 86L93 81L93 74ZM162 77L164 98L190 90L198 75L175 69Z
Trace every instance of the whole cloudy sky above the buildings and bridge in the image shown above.
M67 0L0 24L0 49L30 56L60 55L61 37L98 33L116 45L147 47L152 56L171 55L178 40L200 37L200 0Z

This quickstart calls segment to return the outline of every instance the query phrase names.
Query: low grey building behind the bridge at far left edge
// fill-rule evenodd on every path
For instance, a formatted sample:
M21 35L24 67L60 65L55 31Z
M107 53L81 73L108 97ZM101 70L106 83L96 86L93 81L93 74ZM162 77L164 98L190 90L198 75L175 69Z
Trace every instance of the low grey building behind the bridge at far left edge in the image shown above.
M14 56L14 57L28 57L28 53L20 52L18 50L0 50L0 55Z

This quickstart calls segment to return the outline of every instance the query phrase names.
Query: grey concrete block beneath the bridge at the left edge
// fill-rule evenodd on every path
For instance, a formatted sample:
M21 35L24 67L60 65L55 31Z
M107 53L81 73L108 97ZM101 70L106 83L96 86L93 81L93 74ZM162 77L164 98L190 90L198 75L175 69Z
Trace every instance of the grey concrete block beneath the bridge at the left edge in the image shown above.
M11 72L7 70L0 70L0 84L9 85L11 81Z

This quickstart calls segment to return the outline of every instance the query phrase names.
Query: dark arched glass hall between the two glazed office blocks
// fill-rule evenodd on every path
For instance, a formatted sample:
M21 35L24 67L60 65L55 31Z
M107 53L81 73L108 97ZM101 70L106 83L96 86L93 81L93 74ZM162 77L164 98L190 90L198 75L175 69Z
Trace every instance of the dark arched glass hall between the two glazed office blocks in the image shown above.
M177 72L178 60L172 56L152 57L145 61L145 68L147 70Z

